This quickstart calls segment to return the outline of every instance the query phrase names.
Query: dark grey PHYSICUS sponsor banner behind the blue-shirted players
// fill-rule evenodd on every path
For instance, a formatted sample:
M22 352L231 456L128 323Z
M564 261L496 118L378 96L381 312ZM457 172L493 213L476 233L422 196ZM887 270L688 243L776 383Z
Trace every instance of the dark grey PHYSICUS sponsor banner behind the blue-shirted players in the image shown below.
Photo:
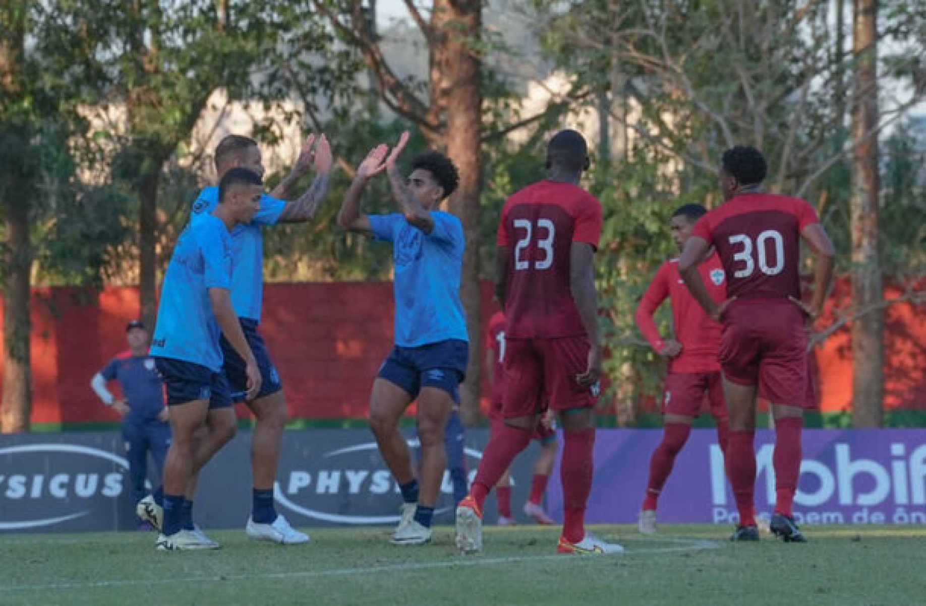
M414 436L407 438L417 452ZM470 481L487 439L486 430L467 432ZM240 431L201 473L194 501L201 526L244 528L252 501L250 443L250 431ZM522 523L537 449L532 444L512 466L512 509ZM394 525L402 502L375 440L362 429L287 431L275 494L278 512L294 526ZM437 522L451 524L453 509L445 473ZM494 520L494 499L485 514ZM0 533L134 527L119 432L0 436Z

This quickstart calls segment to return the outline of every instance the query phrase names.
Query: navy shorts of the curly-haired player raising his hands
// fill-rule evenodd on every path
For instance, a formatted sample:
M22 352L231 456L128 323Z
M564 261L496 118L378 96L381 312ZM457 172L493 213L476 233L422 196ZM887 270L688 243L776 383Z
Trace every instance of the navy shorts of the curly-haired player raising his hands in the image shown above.
M459 384L466 378L469 361L469 343L448 339L420 347L396 345L380 366L378 377L394 383L418 397L422 387L435 387L460 402Z

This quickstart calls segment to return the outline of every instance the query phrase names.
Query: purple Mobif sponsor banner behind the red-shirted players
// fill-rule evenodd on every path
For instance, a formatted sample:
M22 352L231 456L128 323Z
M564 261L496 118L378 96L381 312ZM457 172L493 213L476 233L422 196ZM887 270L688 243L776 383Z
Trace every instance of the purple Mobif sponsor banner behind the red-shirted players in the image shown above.
M590 523L636 521L649 457L661 437L658 429L598 432ZM770 515L775 504L774 441L773 431L757 431L756 510L760 514ZM551 512L562 519L557 482L550 483L547 497ZM658 516L665 523L737 521L713 430L692 431L659 498ZM805 431L795 518L799 524L811 525L926 524L926 430Z

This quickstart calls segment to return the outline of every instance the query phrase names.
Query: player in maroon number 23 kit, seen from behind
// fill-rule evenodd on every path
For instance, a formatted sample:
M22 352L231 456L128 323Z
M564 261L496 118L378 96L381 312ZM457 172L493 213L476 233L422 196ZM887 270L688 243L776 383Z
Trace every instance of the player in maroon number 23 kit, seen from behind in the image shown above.
M457 506L457 548L464 553L482 550L482 504L530 443L547 405L560 414L565 442L565 521L557 550L623 550L585 534L584 526L601 376L594 287L601 203L578 185L588 163L582 135L559 131L547 145L547 178L515 193L502 208L495 291L507 317L504 422L492 432L469 495Z

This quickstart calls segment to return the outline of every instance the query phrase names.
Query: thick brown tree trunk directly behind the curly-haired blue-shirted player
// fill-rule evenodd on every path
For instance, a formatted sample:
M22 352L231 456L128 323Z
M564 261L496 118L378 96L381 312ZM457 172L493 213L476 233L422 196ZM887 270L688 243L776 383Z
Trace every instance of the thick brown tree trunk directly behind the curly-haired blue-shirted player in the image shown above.
M479 417L482 367L479 282L482 95L480 59L472 48L480 34L482 6L479 0L447 2L445 10L450 27L445 49L447 155L460 173L459 188L450 199L450 209L460 218L466 234L460 298L469 330L469 365L460 398L463 421L471 426Z

